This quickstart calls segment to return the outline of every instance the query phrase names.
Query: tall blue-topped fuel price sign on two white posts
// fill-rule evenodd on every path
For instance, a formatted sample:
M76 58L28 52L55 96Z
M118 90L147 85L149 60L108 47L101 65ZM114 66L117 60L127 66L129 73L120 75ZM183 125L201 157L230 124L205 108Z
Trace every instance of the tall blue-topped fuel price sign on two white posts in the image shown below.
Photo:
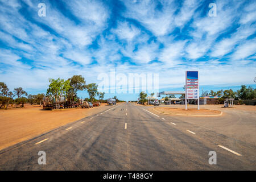
M185 109L187 109L187 100L191 99L197 100L197 109L200 109L198 71L185 72Z

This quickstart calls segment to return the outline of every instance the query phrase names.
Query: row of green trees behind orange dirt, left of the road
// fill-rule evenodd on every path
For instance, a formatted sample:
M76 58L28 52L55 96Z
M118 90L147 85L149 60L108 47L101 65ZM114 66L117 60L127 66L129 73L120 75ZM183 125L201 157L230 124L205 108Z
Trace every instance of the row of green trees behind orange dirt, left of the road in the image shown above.
M77 92L81 90L86 90L88 92L89 98L85 98L85 101L94 102L96 96L101 102L106 102L104 100L104 92L98 92L98 85L96 83L86 84L85 78L81 75L74 75L67 80L57 78L49 78L49 86L46 94L39 93L36 95L27 94L23 88L15 88L13 92L9 91L9 88L4 82L0 82L0 109L5 108L11 104L39 104L40 106L44 102L45 97L54 98L55 104L60 102L61 98L64 97L68 102L80 102L80 98L77 96ZM17 97L14 99L14 97ZM117 100L117 97L114 97ZM118 100L117 100L118 101Z

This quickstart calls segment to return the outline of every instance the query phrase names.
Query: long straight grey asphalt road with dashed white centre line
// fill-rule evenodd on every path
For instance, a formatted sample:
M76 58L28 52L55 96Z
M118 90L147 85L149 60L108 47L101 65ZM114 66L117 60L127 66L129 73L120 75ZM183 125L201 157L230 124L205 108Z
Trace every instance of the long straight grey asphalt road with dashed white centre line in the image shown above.
M38 164L39 151L46 165ZM216 151L216 165L209 151ZM255 170L255 151L254 144L123 103L0 151L0 170Z

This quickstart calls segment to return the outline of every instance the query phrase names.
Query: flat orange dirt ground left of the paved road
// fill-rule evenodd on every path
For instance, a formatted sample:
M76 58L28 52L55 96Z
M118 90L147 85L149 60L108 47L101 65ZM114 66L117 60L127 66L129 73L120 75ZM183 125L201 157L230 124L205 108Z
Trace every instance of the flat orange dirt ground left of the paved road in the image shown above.
M38 105L0 110L0 150L106 109L43 110Z

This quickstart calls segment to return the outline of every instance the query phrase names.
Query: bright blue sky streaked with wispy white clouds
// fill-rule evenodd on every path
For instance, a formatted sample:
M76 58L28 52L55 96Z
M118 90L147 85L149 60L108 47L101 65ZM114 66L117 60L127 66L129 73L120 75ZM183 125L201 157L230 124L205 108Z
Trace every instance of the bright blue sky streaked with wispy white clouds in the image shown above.
M48 78L72 75L98 83L110 69L158 73L160 91L181 90L185 71L199 71L204 90L255 87L255 1L0 0L0 7L0 81L11 90L46 92ZM113 95L137 99L106 97Z

